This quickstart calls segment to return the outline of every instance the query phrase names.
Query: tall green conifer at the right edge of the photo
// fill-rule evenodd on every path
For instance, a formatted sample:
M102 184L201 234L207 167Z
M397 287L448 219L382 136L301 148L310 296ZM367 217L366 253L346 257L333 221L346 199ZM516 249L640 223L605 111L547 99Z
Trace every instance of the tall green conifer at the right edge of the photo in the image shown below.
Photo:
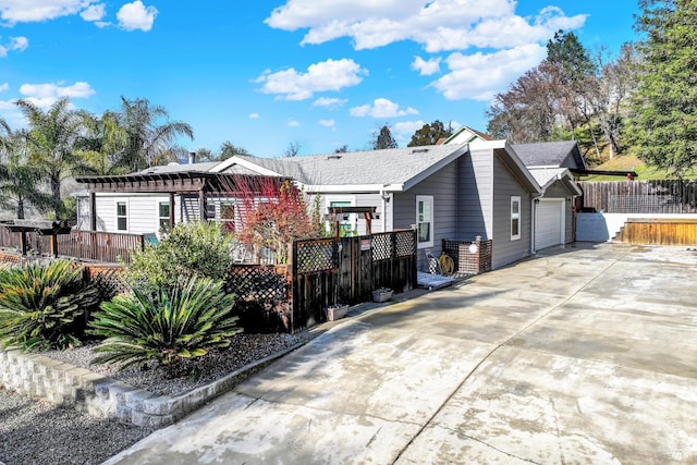
M681 176L697 164L697 2L640 0L638 88L627 136L644 161Z

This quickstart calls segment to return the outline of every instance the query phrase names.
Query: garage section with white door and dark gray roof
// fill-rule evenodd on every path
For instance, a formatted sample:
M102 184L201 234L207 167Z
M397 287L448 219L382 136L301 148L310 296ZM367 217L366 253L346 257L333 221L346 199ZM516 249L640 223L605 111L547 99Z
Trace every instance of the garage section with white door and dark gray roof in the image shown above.
M542 189L533 205L533 252L575 241L574 173L586 171L575 140L515 144L513 149Z

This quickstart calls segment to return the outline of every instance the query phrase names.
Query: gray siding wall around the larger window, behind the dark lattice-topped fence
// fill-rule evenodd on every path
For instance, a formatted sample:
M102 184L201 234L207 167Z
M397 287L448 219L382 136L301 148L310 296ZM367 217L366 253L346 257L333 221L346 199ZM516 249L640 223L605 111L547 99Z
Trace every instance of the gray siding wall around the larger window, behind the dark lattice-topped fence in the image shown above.
M416 224L416 196L433 197L433 245L416 250L417 269L428 271L426 249L439 257L443 238L457 236L457 178L458 161L449 163L404 193L395 193L393 198L394 229L409 229Z

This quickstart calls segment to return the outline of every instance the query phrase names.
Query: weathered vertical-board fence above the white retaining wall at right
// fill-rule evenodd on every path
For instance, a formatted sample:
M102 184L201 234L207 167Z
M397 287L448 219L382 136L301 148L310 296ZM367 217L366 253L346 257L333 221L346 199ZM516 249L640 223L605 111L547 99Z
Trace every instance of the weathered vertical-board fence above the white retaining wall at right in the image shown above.
M584 209L607 213L697 213L697 182L582 181Z

